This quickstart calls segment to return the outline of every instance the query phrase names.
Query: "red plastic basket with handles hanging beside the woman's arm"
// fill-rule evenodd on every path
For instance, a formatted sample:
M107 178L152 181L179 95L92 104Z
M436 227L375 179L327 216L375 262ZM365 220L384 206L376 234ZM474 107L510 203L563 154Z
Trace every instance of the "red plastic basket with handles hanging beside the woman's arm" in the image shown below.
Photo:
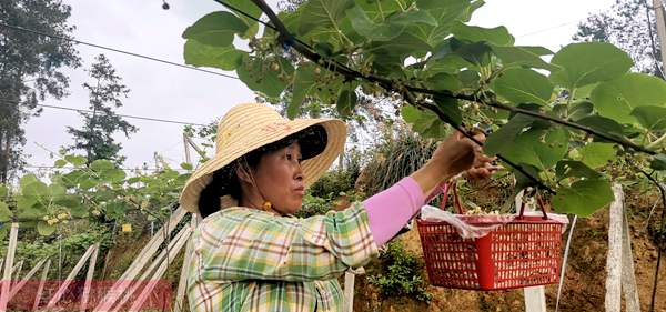
M444 187L443 203L448 185ZM457 191L454 203L463 214ZM561 266L562 227L549 220L541 199L543 217L523 215L480 239L463 239L453 225L416 220L428 280L433 285L466 290L506 290L557 283ZM478 217L460 215L473 225Z

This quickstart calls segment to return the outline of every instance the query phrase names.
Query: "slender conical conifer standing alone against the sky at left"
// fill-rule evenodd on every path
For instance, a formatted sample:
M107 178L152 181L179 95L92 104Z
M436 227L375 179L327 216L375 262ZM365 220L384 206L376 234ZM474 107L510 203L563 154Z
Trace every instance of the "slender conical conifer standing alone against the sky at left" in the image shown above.
M122 78L104 54L99 54L90 70L91 83L83 83L90 94L90 110L92 113L83 115L83 127L75 129L68 127L68 132L74 137L74 144L68 150L84 150L88 163L98 159L112 160L120 164L124 157L119 155L122 145L113 139L115 132L122 132L127 138L137 132L137 128L124 121L113 112L122 107L122 98L127 98L130 89L122 84Z

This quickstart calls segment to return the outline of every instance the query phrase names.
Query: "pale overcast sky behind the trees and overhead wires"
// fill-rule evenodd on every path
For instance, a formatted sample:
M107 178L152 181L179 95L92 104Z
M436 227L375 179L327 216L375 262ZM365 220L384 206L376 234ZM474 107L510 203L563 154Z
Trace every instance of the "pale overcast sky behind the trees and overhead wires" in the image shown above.
M64 0L72 7L70 22L77 26L73 36L82 41L109 46L135 53L183 63L182 31L204 14L220 10L211 0L171 0L171 10L162 10L161 0ZM272 4L276 0L269 1ZM607 10L614 0L486 0L472 24L495 27L504 24L516 37L516 44L538 44L558 50L571 42L576 23L588 14ZM87 109L88 93L81 84L87 81L85 68L94 57L104 53L123 82L131 89L122 114L206 123L221 117L230 107L249 102L253 93L239 80L176 68L130 56L77 46L83 67L68 70L70 95L47 104ZM234 72L230 72L235 76ZM128 119L139 128L130 140L118 137L128 157L125 167L148 162L153 152L176 165L184 160L182 125ZM27 124L26 151L32 165L52 165L49 152L71 144L65 127L79 127L81 117L71 111L44 108L43 113Z

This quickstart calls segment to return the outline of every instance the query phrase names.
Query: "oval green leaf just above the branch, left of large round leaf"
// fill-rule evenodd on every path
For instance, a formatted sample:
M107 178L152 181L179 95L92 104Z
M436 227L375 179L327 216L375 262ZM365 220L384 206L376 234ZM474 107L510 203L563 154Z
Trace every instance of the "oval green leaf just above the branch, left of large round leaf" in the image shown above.
M514 68L504 71L493 83L497 94L514 103L545 105L553 94L548 79L529 69Z

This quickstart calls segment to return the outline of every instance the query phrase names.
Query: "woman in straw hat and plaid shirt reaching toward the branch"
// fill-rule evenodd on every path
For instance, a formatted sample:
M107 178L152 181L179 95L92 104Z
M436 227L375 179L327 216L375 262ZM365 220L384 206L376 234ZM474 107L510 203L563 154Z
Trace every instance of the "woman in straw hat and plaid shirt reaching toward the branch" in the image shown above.
M337 276L376 256L441 182L493 171L481 148L456 133L420 170L364 202L290 217L345 137L340 120L285 120L263 104L240 104L224 115L215 157L180 198L204 218L192 238L191 311L342 311Z

